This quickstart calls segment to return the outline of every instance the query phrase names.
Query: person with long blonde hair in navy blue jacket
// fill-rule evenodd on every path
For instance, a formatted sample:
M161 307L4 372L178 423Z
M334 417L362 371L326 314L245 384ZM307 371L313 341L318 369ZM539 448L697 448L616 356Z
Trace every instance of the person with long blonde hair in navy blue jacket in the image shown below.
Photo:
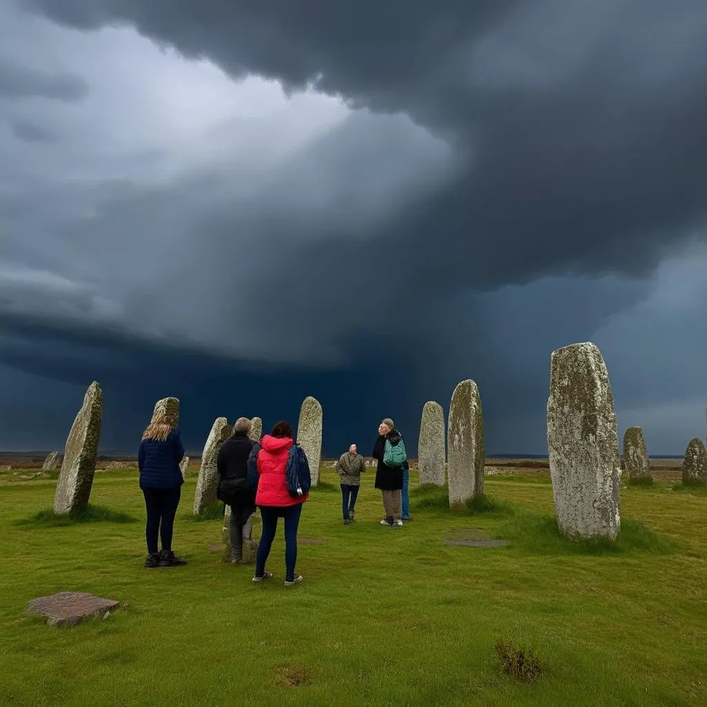
M170 425L165 416L158 416L146 428L138 450L140 488L147 507L146 567L174 567L185 565L172 549L172 534L177 506L182 495L182 471L179 463L184 458L182 437L178 428ZM157 537L162 549L157 551Z

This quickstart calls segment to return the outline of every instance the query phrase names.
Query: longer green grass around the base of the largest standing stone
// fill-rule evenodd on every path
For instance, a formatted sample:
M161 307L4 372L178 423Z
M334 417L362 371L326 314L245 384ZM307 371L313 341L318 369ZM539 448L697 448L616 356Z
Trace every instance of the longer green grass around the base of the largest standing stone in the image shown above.
M650 530L642 522L621 519L621 532L616 540L597 537L574 539L560 532L554 515L530 512L515 515L503 527L503 537L514 545L539 554L651 554L665 555L674 551L667 537Z

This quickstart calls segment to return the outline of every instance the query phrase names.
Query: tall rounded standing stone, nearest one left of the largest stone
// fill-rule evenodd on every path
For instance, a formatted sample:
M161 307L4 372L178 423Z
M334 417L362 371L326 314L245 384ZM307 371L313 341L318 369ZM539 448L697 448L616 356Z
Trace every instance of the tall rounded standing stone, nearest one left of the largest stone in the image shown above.
M449 505L456 506L484 493L484 413L479 387L462 380L449 407Z

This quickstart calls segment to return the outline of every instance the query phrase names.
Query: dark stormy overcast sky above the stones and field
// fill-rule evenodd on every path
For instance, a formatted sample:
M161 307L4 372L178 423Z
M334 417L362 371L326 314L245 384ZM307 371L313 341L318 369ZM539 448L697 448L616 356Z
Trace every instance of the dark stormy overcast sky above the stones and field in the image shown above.
M303 10L302 7L306 6ZM705 438L704 0L0 3L0 448L159 397L325 411L325 453L479 385L547 452L594 341L652 454Z

